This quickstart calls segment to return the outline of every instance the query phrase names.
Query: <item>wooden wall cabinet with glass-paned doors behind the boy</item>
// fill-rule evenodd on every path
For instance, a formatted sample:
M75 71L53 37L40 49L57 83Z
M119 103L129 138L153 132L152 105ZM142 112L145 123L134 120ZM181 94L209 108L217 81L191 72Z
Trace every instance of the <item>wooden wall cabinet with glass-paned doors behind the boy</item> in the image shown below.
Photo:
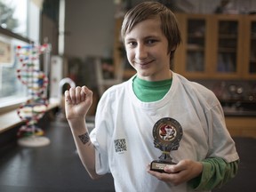
M188 78L256 78L256 17L176 14L182 44L174 70Z

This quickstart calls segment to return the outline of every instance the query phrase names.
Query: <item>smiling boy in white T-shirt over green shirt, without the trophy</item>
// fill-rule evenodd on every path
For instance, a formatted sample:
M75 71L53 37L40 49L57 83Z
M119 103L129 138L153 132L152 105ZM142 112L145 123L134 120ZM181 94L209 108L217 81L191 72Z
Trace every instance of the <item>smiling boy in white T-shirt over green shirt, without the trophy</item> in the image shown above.
M210 191L233 178L239 157L220 102L170 70L180 44L173 13L156 2L138 4L126 13L121 35L137 74L102 95L90 135L85 116L92 91L83 86L65 92L68 124L87 172L93 179L111 172L116 191L129 192ZM170 153L176 164L155 172L148 164L161 151L152 130L166 117L179 122L183 134Z

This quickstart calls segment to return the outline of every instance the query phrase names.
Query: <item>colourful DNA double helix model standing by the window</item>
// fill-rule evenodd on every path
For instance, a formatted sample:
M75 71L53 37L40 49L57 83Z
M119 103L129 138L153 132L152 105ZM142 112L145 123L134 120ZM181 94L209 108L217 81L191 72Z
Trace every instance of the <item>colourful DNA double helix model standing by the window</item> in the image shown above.
M44 131L36 124L44 116L48 106L46 93L48 78L40 70L40 55L46 51L49 44L16 47L16 57L20 62L17 77L22 84L27 86L28 100L17 109L17 114L26 124L20 127L17 135L19 138L40 137Z

